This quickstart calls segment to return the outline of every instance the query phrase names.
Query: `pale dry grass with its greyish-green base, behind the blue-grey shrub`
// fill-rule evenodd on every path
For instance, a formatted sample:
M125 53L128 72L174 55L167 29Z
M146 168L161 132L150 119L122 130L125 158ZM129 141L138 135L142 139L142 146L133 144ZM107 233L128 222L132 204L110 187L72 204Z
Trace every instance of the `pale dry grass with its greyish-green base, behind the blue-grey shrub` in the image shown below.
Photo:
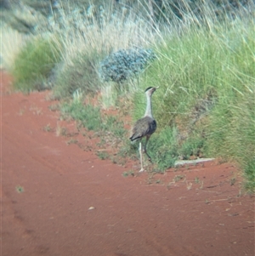
M120 92L125 94L135 83L123 85L119 92L115 84L102 83L99 62L119 49L148 47L155 39L147 20L130 9L113 9L112 3L92 4L88 9L60 8L48 18L48 25L38 26L37 31L43 33L45 27L63 44L64 61L55 72L56 96L71 96L77 88L86 92L101 88L104 106L116 104Z

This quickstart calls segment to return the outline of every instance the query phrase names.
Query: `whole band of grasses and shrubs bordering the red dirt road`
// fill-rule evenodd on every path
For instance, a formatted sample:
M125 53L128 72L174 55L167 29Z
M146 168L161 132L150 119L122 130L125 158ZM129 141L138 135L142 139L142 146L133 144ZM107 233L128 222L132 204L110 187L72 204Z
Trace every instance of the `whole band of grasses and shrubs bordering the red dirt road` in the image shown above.
M218 157L235 162L254 191L252 1L57 2L41 11L22 7L22 17L34 17L26 19L33 25L26 36L4 25L3 38L15 33L20 40L23 33L22 45L5 37L11 47L1 53L15 88L51 88L62 115L100 134L120 159L138 149L122 120L142 117L144 89L159 86L152 99L158 128L148 144L152 171L164 172L177 159ZM117 117L103 115L109 107Z

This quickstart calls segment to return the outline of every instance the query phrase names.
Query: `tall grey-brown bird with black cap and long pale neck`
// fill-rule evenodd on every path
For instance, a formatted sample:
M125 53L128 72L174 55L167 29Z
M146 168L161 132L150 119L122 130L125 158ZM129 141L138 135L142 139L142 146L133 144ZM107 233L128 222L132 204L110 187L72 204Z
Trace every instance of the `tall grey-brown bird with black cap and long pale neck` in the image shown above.
M132 135L130 136L130 140L139 140L139 155L140 155L140 164L141 169L140 172L144 172L144 165L143 165L143 152L148 156L149 160L151 161L151 157L148 155L146 150L146 145L148 140L150 139L151 134L156 131L156 120L152 115L152 104L151 104L151 96L156 91L158 87L149 87L146 88L144 93L146 95L147 105L145 109L144 117L140 118L137 122L134 123L132 128ZM142 145L142 139L146 137L144 149Z

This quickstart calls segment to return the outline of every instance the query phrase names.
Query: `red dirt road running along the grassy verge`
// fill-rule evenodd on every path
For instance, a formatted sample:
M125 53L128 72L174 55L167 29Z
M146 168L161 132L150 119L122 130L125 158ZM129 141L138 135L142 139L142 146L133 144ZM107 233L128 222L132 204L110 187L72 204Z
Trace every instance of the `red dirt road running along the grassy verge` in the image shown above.
M67 145L44 129L59 118L48 92L9 94L2 76L2 256L254 255L254 197L231 164L125 178L138 162Z

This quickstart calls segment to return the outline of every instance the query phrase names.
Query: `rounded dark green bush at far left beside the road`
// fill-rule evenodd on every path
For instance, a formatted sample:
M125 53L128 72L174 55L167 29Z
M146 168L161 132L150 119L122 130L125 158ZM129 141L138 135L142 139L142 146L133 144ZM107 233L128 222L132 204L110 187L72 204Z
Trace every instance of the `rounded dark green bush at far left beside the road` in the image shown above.
M48 78L61 58L60 48L53 38L32 37L14 60L14 88L23 92L48 88Z

